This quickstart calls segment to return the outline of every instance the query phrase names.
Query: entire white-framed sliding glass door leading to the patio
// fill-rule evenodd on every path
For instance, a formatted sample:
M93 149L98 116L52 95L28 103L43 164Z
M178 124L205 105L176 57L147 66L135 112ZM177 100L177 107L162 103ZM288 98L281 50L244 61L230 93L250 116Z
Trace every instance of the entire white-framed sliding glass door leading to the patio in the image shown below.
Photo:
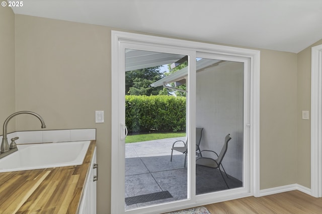
M167 212L258 192L259 53L112 38L111 212Z

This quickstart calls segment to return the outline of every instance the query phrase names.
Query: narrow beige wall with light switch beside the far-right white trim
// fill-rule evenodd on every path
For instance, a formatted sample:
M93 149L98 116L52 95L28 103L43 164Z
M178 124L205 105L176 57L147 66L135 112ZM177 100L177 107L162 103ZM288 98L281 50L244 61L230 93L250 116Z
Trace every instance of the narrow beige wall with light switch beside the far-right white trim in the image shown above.
M298 53L297 56L297 182L311 187L311 120L302 120L302 111L311 111L311 48L322 40Z

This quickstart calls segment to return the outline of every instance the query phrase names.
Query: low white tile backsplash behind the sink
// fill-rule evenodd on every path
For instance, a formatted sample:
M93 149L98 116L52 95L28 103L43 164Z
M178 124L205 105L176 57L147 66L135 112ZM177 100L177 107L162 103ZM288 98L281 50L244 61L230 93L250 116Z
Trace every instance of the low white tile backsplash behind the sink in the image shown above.
M87 141L96 140L96 129L14 132L7 135L8 142L11 143L10 139L14 137L19 137L17 144Z

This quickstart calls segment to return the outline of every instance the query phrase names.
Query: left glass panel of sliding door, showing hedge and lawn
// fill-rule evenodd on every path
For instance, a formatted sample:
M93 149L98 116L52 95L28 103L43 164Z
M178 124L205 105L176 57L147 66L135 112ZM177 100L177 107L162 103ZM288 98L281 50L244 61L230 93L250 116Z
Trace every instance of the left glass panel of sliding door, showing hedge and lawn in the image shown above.
M188 56L125 49L125 210L186 199Z

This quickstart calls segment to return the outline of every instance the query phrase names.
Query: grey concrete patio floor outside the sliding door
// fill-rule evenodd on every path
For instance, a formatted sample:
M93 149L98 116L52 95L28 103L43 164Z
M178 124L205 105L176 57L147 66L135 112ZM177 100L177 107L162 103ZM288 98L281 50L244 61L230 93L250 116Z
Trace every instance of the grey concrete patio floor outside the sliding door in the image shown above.
M168 138L125 145L125 198L137 199L135 196L167 193L163 199L130 203L125 209L163 203L187 198L187 168L184 168L184 157L174 151L170 161L171 148L181 138ZM219 171L206 167L196 169L196 192L202 194L227 189ZM216 182L214 182L216 181ZM240 187L243 183L231 176L226 179L230 188ZM170 194L169 194L170 193ZM141 198L142 198L141 197ZM148 199L147 199L148 200ZM143 200L144 201L144 200Z

